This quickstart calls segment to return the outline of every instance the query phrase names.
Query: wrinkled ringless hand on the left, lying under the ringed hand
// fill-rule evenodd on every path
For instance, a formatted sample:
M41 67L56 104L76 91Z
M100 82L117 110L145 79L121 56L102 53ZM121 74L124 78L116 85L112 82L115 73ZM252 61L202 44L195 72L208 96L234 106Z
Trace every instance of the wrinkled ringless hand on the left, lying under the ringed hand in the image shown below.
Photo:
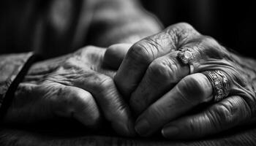
M84 47L31 66L4 122L33 123L64 117L95 128L104 115L118 134L135 134L127 104L113 82L115 72L102 67L105 50Z

